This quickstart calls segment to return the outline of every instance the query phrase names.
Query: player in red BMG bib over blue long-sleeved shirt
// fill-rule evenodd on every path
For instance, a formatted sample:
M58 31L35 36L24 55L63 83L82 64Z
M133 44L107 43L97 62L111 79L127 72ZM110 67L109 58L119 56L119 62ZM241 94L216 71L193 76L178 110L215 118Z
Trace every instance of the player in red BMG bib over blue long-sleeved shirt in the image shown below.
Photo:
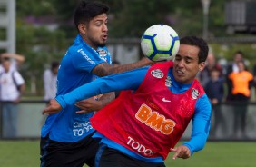
M113 74L58 95L43 113L54 114L100 93L126 90L90 119L101 140L95 166L165 166L172 159L186 159L202 150L211 123L211 103L195 79L205 66L208 46L196 36L181 39L174 63ZM77 114L84 113L79 111ZM192 120L188 142L175 147Z

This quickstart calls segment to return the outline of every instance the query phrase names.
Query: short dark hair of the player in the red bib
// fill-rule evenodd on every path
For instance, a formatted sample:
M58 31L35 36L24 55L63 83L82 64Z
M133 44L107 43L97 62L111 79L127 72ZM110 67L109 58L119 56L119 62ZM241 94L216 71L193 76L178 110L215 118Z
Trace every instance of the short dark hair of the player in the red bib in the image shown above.
M185 36L185 37L182 37L182 39L180 40L180 43L199 47L198 63L202 63L206 61L206 58L209 52L209 47L208 47L208 44L201 37Z

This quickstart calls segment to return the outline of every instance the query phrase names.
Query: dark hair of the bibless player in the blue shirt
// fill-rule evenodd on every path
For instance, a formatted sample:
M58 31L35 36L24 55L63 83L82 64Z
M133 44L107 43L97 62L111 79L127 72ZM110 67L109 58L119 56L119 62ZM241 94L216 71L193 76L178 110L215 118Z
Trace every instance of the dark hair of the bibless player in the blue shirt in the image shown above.
M109 6L99 1L82 0L74 10L74 25L76 28L79 24L87 25L95 16L108 14Z

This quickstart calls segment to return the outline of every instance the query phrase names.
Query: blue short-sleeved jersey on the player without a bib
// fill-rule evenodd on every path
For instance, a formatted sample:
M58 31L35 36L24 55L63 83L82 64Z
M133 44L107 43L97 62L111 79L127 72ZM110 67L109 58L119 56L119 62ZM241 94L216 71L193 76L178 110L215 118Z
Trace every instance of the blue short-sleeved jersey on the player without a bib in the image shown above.
M78 34L60 64L56 95L69 93L85 83L92 82L95 78L92 70L103 62L112 64L107 48L100 47L95 51L84 43L82 36ZM94 113L76 114L79 110L81 109L73 104L59 113L49 115L42 127L41 136L49 134L49 138L57 142L78 142L84 139L94 132L89 122Z

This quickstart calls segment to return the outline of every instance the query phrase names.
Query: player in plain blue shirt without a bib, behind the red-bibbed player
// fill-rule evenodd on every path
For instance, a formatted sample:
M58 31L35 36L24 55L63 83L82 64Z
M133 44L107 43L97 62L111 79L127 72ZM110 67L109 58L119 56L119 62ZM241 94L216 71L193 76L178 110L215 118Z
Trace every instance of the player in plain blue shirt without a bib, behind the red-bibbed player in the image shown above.
M105 43L108 37L109 7L96 1L82 1L74 11L74 25L78 35L61 61L57 75L57 93L69 93L75 88L90 83L95 76L120 73L153 64L147 58L134 64L111 65L111 56ZM97 79L96 79L97 80ZM114 93L105 93L96 101L84 101L66 107L62 112L51 114L41 131L41 167L82 167L94 164L98 142L91 136L95 130L89 118L94 113L76 114L81 106L86 110L98 110L114 98ZM88 107L89 106L89 107ZM92 106L92 107L90 107Z

